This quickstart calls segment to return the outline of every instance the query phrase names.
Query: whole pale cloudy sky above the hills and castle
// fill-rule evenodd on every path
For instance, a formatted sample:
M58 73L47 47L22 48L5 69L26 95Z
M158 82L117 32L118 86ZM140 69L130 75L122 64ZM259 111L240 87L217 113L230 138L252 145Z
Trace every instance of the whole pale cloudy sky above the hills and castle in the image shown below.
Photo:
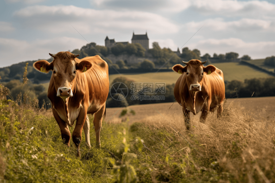
M131 43L133 31L147 31L149 47L266 58L275 55L275 0L1 0L0 68L104 46L106 36Z

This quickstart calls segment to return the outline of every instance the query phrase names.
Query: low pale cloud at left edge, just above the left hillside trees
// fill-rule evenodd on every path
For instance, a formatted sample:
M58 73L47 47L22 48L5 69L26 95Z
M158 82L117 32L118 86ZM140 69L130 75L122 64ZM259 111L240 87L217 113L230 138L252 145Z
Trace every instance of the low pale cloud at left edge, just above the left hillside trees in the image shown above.
M33 42L0 38L0 66L6 67L27 60L47 59L50 57L48 53L72 51L86 44L85 40L70 37L37 39Z

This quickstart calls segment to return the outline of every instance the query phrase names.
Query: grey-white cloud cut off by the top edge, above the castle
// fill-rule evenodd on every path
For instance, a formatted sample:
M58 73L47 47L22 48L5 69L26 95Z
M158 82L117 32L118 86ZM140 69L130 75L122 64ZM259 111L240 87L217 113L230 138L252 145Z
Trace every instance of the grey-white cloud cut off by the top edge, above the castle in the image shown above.
M99 8L118 10L180 12L190 6L190 0L90 0Z

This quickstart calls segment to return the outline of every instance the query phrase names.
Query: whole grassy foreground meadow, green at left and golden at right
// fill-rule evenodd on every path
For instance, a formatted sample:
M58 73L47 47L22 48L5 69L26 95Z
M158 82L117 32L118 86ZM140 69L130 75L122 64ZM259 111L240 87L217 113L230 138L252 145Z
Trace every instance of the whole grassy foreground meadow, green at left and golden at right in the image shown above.
M238 102L227 101L221 117L212 113L206 123L192 117L191 130L186 130L183 115L168 106L160 112L153 106L157 113L148 113L137 122L131 117L135 116L131 107L121 108L116 111L120 116L106 117L103 122L101 149L95 148L91 128L92 147L86 146L83 134L82 156L76 158L73 143L63 144L50 109L37 108L27 96L7 100L0 89L0 182L275 181L275 120L264 117L264 111L256 119ZM89 118L92 123L92 115Z

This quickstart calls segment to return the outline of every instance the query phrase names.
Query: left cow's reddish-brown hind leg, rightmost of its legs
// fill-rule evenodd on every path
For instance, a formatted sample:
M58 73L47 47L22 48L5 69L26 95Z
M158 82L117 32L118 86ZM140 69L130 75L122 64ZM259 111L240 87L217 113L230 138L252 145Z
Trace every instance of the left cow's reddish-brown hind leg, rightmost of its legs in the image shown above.
M96 142L95 145L97 148L101 148L100 144L100 130L101 130L101 125L102 125L102 120L103 120L103 115L105 114L105 104L102 106L102 108L94 114L93 118L93 126L95 130L95 138Z

